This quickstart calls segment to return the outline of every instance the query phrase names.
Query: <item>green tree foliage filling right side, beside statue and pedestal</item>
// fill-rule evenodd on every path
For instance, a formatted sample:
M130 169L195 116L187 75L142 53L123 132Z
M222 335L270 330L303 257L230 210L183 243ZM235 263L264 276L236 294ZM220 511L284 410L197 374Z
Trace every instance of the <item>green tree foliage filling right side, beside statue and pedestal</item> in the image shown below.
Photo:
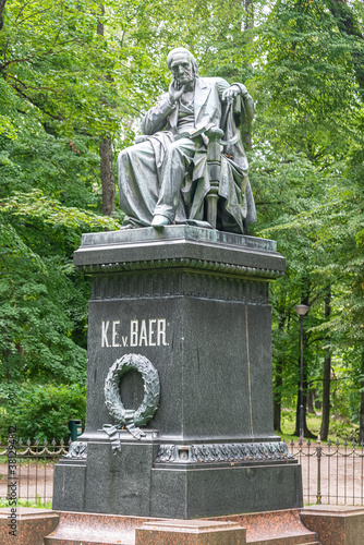
M271 289L274 367L282 380L275 397L291 407L296 399L293 308L305 303L311 308L304 380L321 392L324 358L330 354L331 409L357 423L364 349L363 4L277 0L255 34L254 234L276 239L288 265Z

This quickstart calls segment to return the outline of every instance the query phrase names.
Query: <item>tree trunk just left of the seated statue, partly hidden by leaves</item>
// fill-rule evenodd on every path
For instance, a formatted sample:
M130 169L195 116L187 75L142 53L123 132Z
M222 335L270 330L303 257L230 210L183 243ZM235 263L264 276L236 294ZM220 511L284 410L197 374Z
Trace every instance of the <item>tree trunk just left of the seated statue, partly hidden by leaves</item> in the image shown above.
M100 5L101 16L105 14L105 7ZM104 36L104 23L97 22L97 34ZM111 216L116 209L116 180L112 170L112 142L109 134L100 137L100 178L102 185L102 214Z

